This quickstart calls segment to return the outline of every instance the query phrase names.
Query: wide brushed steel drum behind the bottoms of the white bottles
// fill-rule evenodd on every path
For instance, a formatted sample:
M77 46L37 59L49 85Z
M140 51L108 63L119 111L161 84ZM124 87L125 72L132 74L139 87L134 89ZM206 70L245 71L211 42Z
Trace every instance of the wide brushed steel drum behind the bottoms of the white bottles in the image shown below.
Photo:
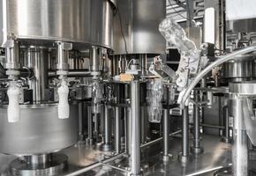
M78 141L78 106L70 106L70 118L57 118L56 105L21 106L20 120L7 121L0 108L0 152L13 155L51 153Z

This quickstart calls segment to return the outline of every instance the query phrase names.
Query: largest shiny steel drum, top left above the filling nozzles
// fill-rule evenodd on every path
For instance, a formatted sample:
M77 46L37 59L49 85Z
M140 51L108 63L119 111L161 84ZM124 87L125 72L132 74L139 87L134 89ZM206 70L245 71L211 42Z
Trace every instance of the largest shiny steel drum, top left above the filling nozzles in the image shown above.
M1 43L64 40L112 48L115 4L109 0L0 0ZM5 21L5 22L4 22Z

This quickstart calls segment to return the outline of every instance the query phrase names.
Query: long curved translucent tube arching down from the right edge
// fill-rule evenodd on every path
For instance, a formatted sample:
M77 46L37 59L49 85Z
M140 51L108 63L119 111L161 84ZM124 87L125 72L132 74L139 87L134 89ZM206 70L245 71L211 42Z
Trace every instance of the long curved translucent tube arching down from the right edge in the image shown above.
M256 46L251 46L248 48L243 48L240 49L238 51L235 51L229 55L224 55L221 58L219 58L218 60L216 60L215 62L212 62L211 64L209 64L204 70L202 70L199 75L197 77L195 77L192 80L192 83L188 86L188 88L186 89L186 91L184 92L184 96L181 99L180 105L182 108L184 108L184 103L185 101L189 98L190 93L192 92L192 89L200 82L200 80L205 77L207 75L207 73L209 71L211 71L212 69L214 69L216 66L222 64L223 62L228 62L231 59L235 60L238 57L235 57L236 55L245 55L247 53L250 53L252 51L255 51Z

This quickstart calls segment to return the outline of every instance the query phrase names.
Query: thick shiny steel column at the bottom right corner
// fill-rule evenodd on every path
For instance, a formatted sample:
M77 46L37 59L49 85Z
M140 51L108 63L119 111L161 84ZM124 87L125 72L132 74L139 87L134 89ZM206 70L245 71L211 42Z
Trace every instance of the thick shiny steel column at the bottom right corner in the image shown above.
M248 146L243 113L243 104L246 99L230 99L230 117L234 120L234 145L232 148L232 166L234 176L248 175Z

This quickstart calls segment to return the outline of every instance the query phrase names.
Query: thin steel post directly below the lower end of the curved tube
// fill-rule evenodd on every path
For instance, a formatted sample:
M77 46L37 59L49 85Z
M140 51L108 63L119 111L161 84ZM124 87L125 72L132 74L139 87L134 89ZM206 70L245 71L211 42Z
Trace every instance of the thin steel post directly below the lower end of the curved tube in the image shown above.
M184 106L182 111L183 127L182 127L182 160L189 157L189 114L188 106Z

